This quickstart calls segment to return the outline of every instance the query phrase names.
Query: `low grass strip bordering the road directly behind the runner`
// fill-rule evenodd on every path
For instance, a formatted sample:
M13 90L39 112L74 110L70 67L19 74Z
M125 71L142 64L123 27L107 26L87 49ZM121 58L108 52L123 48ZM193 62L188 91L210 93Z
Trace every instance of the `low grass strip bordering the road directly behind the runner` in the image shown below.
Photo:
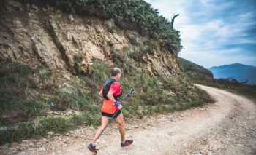
M98 113L85 112L80 115L62 117L46 116L37 122L21 122L12 127L0 128L0 144L48 135L48 132L63 133L80 124L99 125Z

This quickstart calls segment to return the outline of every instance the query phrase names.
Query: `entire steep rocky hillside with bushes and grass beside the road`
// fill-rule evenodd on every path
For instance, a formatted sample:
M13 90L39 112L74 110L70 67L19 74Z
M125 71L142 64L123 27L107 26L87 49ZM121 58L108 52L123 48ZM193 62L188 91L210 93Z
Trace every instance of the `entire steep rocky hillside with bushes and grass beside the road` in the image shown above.
M203 106L178 31L145 1L0 2L0 143L99 124L99 87L123 70L124 116Z

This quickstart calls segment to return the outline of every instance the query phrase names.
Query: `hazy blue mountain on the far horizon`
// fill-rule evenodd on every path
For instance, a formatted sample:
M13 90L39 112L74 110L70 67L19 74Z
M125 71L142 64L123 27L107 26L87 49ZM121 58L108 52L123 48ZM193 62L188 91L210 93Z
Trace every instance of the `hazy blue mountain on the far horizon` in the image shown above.
M238 82L247 84L256 84L256 67L252 65L244 65L241 63L233 63L230 65L214 66L209 68L214 73L215 79L236 79Z

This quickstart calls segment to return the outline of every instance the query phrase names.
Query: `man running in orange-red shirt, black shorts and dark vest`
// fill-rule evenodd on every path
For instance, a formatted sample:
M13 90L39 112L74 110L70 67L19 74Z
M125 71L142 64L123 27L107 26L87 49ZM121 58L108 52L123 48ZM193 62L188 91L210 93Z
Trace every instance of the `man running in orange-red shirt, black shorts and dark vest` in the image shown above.
M104 98L101 112L102 112L102 122L101 126L98 128L94 135L94 140L89 144L88 148L90 151L97 153L96 141L99 135L102 134L105 127L107 127L109 119L114 118L119 125L119 131L121 135L121 147L129 146L132 144L132 140L125 140L125 123L124 116L121 113L121 100L119 100L122 90L121 84L118 82L121 79L121 69L113 68L111 71L111 78L108 79L104 86L99 91L99 95Z

